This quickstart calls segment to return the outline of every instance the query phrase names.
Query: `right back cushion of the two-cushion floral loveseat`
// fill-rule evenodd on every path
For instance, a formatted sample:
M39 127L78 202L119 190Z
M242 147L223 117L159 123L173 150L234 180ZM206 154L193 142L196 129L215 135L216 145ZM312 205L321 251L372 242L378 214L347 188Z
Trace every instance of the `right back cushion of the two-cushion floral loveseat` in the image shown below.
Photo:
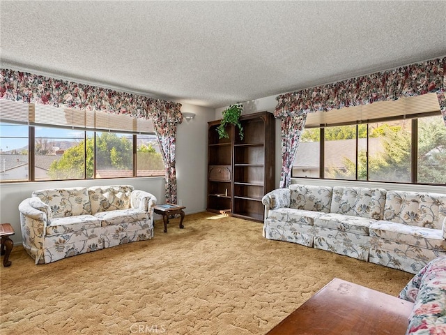
M130 208L131 185L93 186L89 188L91 213Z

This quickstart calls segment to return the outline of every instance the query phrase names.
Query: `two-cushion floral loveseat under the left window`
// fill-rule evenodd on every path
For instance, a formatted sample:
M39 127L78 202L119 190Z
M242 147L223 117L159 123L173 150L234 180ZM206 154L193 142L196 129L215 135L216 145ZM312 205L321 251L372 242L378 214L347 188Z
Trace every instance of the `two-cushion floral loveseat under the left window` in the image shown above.
M151 239L155 204L130 185L34 191L19 205L23 246L39 264Z

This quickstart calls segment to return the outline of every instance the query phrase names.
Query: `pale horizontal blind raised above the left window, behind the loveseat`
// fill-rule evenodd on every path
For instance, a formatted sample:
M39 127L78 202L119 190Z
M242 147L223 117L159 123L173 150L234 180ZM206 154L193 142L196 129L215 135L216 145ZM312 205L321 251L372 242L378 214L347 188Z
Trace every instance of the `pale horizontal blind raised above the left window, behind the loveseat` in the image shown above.
M76 110L49 105L0 100L0 119L4 122L86 128L125 133L154 133L153 121L125 114Z

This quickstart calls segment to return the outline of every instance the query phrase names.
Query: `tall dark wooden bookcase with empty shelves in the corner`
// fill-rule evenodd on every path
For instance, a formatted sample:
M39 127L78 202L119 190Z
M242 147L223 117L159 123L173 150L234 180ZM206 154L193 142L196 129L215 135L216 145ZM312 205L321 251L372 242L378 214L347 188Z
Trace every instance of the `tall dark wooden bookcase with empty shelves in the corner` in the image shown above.
M228 126L229 139L218 138L220 120L209 122L208 211L263 221L261 198L275 188L275 119L269 112L240 118Z

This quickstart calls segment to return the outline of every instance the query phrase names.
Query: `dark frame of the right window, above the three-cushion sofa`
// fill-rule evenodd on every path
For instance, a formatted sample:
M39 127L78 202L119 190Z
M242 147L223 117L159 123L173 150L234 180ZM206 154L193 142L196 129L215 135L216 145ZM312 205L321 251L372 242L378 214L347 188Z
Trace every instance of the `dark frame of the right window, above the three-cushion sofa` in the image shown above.
M368 182L368 183L384 183L384 184L414 184L414 185L426 185L426 186L444 186L444 184L434 184L434 183L420 183L418 182L418 119L424 118L424 117L438 117L441 114L438 111L435 112L423 112L419 114L410 114L406 116L399 116L399 117L385 117L380 119L373 119L373 120L367 120L364 122L358 122L358 121L352 121L352 122L344 122L339 124L321 124L318 126L309 126L306 127L307 129L311 128L318 128L319 133L319 177L295 177L293 176L293 169L291 169L291 178L298 178L298 179L324 179L324 180L331 180L331 181L348 181L348 182ZM410 144L410 151L411 151L411 169L410 169L410 182L408 181L376 181L376 180L369 180L369 131L367 127L367 179L358 179L358 169L357 169L357 163L356 163L356 177L355 179L339 179L339 178L325 178L325 128L331 127L331 126L356 126L356 142L358 141L357 133L358 133L358 126L361 124L369 124L371 122L388 122L388 121L399 121L403 119L410 119L411 120L411 144ZM356 161L357 161L357 154L358 154L358 146L356 144Z

